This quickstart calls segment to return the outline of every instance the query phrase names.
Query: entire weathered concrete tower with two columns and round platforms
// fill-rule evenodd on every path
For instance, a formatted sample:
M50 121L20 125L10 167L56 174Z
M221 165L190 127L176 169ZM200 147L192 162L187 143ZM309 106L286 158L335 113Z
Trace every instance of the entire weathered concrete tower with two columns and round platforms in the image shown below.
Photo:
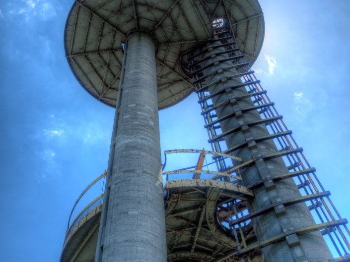
M347 220L250 70L263 38L257 0L74 1L70 68L116 114L83 194L104 177L105 192L69 222L61 262L350 261ZM158 110L192 92L212 151L165 152L200 157L163 188Z

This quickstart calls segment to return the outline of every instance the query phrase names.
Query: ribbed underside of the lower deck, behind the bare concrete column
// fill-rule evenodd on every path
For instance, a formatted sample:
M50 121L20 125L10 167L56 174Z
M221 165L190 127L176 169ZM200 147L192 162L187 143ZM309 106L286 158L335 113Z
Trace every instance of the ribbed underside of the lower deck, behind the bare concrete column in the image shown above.
M195 184L193 183L194 181ZM219 223L217 207L232 196L247 199L245 193L228 182L210 180L171 180L165 186L165 221L169 262L212 261L237 250L229 230ZM216 183L221 182L221 183ZM197 183L197 185L196 185ZM243 188L244 190L244 188ZM66 236L61 262L93 262L102 205L88 212ZM251 226L246 229L247 243L256 241ZM253 260L260 261L260 258Z

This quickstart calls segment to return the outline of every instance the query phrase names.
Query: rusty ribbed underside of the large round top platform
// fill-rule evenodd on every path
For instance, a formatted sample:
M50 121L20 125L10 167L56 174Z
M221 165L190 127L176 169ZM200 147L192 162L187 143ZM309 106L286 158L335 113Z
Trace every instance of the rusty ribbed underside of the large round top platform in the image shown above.
M157 40L158 105L174 105L194 91L180 55L213 38L211 21L223 18L250 65L264 39L257 0L76 0L65 28L65 52L84 89L115 107L128 32L145 30Z

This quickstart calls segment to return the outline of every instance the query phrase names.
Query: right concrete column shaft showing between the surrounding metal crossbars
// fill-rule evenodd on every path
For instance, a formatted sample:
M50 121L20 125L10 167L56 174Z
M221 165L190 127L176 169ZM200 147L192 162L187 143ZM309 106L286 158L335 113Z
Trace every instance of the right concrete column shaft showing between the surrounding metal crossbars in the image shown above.
M228 115L233 111L238 111L234 116L220 122L221 130L222 132L225 132L232 128L258 121L261 119L261 116L257 110L243 113L242 111L239 111L254 106L254 104L250 98L243 100L234 99L235 97L248 95L248 92L244 87L235 88L235 86L242 84L242 81L239 77L230 78L230 76L237 74L236 69L232 68L232 61L219 62L220 60L228 58L228 53L224 52L224 47L215 48L215 46L219 44L219 42L208 44L205 48L208 48L209 52L199 55L196 59L200 60L211 54L211 58L201 64L201 67L205 67L207 64L214 63L214 65L203 70L204 75L211 75L207 78L207 83L213 83L219 79L224 80L225 77L228 79L209 88L211 94L225 90L222 94L212 98L214 106L222 102L230 101L229 105L216 109L218 118ZM222 53L215 54L219 52ZM266 140L260 143L247 143L247 141L268 135L269 131L265 124L254 125L251 127L246 125L242 126L238 131L225 136L225 142L227 148L246 144L246 146L233 152L235 156L241 157L243 162L245 162L253 157L256 158L278 152L273 140ZM288 169L281 157L266 161L260 159L256 161L255 165L241 171L243 183L246 186L258 182L268 176L275 176L284 173L288 173ZM262 210L264 207L267 207L272 203L300 196L299 190L293 179L285 179L275 182L274 185L270 184L268 186L262 186L255 189L254 194L255 198L250 204L250 211ZM259 242L263 242L289 230L315 224L310 211L304 203L285 208L278 208L252 220L255 234ZM265 262L319 262L332 258L327 244L320 232L313 232L299 237L296 235L288 236L286 241L263 248L262 253Z

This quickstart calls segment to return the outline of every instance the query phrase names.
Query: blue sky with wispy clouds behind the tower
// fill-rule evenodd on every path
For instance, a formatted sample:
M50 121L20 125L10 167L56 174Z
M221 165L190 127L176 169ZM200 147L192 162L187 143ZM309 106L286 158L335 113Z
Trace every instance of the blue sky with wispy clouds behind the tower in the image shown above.
M88 95L70 72L63 31L72 3L0 2L3 262L58 261L72 205L107 166L114 110ZM266 33L253 69L350 218L350 1L260 4ZM159 118L162 151L209 148L196 96Z

